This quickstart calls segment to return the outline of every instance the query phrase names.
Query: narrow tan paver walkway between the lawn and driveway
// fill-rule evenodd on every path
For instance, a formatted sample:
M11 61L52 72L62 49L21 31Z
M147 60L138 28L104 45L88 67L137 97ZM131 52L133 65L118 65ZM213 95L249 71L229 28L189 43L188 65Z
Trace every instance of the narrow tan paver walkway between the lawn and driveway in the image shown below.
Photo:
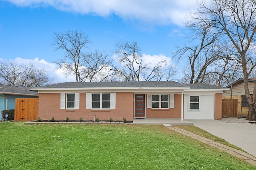
M183 135L186 135L186 136L189 136L193 139L196 139L198 141L201 141L202 143L206 143L208 145L211 145L217 149L220 149L220 150L223 150L224 152L228 152L229 154L232 154L233 156L236 156L238 158L242 158L244 159L246 162L256 166L256 158L246 152L242 152L241 150L237 150L237 149L234 149L234 148L231 148L231 147L228 147L226 145L223 145L223 144L220 144L220 143L217 143L215 141L212 141L210 139L207 139L205 137L201 137L199 135L196 135L194 133L191 133L191 132L188 132L186 130L183 130L183 129L180 129L178 127L173 127L173 126L169 126L169 125L165 125L167 128L169 129L172 129L176 132L179 132L179 133L182 133Z

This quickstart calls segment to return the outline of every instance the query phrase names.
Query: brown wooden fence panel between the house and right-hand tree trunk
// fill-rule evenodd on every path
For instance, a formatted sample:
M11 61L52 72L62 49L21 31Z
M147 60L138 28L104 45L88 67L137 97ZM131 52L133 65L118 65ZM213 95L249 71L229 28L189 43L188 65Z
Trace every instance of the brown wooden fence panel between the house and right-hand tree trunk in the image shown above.
M237 99L222 99L222 117L237 117Z

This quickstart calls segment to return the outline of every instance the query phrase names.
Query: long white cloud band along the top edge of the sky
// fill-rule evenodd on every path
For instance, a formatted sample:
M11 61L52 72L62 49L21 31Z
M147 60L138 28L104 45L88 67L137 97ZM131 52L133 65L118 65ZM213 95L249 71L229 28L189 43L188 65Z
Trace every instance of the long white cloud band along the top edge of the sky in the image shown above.
M76 14L109 17L116 14L129 21L154 25L183 25L196 8L196 0L6 0L17 6L53 6Z

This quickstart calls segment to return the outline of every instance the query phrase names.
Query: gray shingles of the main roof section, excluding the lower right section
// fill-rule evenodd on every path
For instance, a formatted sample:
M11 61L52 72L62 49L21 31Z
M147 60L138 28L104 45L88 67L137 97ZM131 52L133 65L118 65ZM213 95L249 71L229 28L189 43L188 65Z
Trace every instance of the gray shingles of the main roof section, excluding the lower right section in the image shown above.
M108 88L108 87L180 87L187 88L185 84L174 81L155 82L65 82L50 84L39 88Z

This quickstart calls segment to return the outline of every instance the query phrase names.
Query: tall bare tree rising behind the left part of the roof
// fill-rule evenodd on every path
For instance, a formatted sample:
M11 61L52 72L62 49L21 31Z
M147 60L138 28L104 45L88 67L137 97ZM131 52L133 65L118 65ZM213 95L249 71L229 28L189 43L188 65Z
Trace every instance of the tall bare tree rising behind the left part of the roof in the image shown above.
M54 33L53 45L56 46L56 51L63 49L66 53L65 58L54 63L58 68L64 70L66 76L70 74L76 75L76 82L81 82L79 67L81 62L82 50L86 48L89 39L82 31L67 31L66 33Z

